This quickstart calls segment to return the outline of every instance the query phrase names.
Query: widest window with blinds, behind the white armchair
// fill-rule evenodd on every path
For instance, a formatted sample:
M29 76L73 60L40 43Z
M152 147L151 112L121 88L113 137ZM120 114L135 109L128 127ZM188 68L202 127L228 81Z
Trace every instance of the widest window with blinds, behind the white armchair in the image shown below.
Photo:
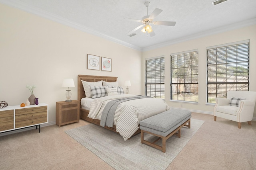
M229 90L249 91L249 40L207 47L207 102Z

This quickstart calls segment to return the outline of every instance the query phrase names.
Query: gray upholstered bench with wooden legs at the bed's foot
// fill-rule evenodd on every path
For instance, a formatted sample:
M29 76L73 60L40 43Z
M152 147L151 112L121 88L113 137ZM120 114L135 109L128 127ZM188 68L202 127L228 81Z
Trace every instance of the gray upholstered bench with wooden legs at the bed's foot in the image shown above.
M172 135L180 137L180 128L190 128L191 111L170 109L140 121L141 143L145 143L156 149L166 151L166 140ZM188 125L187 125L188 123ZM178 133L176 133L178 131ZM144 133L159 137L154 142L144 140ZM162 147L156 142L162 139Z

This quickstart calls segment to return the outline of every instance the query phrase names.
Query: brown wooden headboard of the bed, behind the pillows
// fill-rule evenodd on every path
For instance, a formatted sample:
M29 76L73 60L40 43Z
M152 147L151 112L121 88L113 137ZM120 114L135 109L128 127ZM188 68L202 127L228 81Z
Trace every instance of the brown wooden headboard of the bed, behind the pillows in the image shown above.
M117 77L78 75L78 100L79 101L82 98L86 97L81 80L84 80L86 82L98 82L100 80L103 80L105 82L116 82Z

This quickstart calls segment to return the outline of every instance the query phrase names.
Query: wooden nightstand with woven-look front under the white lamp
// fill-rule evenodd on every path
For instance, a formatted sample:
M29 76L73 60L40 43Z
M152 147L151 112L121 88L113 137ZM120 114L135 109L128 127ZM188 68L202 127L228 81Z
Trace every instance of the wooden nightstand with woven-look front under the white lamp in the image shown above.
M80 101L56 102L56 125L79 122Z

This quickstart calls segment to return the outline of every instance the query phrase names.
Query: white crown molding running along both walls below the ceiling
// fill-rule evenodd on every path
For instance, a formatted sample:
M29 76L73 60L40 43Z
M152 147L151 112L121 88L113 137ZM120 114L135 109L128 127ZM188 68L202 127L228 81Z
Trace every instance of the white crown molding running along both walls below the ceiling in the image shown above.
M95 36L98 36L98 37L102 37L102 38L107 39L109 41L118 43L120 45L124 45L126 47L129 47L129 48L132 48L132 49L135 49L135 50L138 50L138 51L142 51L142 52L143 51L150 51L152 49L157 49L157 48L160 48L160 47L166 47L168 45L181 43L181 42L189 41L189 40L192 40L192 39L197 39L197 38L200 38L200 37L205 37L205 36L208 36L208 35L213 35L213 34L216 34L216 33L230 31L230 30L233 30L233 29L239 29L239 28L242 28L242 27L250 26L250 25L256 25L256 18L252 18L250 20L246 20L246 21L242 21L242 22L238 22L238 23L233 23L233 24L230 24L230 25L226 25L226 26L218 27L218 28L214 28L214 29L209 29L207 31L203 31L203 32L200 32L200 33L196 33L196 34L193 34L193 35L186 36L186 37L181 37L181 38L178 38L178 39L174 39L172 41L166 41L164 43L159 43L159 44L156 44L156 45L151 45L151 46L148 46L148 47L141 48L141 47L138 47L136 45L132 45L130 43L126 43L126 42L121 41L119 39L116 39L116 38L110 37L108 35L105 35L104 33L94 31L94 30L92 30L88 27L84 27L83 25L80 25L78 23L72 22L72 21L67 20L65 18L56 16L55 14L52 14L50 12L46 12L46 11L41 10L40 8L36 8L34 6L30 6L28 4L20 2L18 0L0 0L0 3L6 4L6 5L14 7L14 8L18 8L20 10L24 10L26 12L30 12L32 14L36 14L36 15L41 16L43 18L47 18L49 20L56 21L58 23L62 23L63 25L67 25L69 27L79 29L83 32L86 32L86 33L89 33L89 34L92 34L92 35L95 35Z

